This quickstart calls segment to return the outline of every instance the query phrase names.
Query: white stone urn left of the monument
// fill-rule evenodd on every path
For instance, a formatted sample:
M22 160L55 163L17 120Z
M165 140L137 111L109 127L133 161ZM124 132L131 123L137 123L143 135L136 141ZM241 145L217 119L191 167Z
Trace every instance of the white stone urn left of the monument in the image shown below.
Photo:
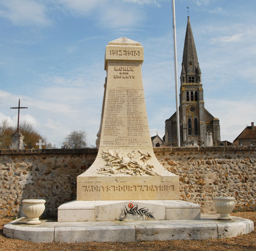
M39 217L45 211L45 200L44 199L24 199L23 212L28 217L26 224L41 224Z

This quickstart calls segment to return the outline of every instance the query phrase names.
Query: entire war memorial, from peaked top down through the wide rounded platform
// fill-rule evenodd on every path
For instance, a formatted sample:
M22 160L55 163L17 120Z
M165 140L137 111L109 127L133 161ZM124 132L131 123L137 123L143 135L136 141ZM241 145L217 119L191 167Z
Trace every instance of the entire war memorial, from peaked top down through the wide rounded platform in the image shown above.
M223 238L253 231L250 220L224 213L220 220L220 215L201 214L199 205L179 200L179 176L162 167L153 151L142 62L139 42L125 37L109 42L98 154L77 177L76 200L59 206L58 221L28 225L23 217L5 225L8 237L131 242Z

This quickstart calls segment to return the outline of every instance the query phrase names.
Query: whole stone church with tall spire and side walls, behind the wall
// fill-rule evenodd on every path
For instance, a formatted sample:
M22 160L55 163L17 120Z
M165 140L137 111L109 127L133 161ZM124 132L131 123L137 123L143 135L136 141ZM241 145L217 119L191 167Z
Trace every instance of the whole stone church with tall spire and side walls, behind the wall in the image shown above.
M180 76L181 146L218 146L220 144L220 121L204 108L201 75L188 16ZM163 140L166 146L177 146L176 112L165 121Z

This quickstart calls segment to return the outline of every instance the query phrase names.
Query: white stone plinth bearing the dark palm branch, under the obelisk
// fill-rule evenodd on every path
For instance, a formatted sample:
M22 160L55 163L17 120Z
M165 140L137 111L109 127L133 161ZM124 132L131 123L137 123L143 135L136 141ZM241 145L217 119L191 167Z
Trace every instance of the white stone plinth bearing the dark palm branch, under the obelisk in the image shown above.
M127 213L137 206L136 214ZM148 210L155 220L200 219L200 206L182 200L73 200L58 208L58 221L146 220ZM142 212L141 215L138 212Z

